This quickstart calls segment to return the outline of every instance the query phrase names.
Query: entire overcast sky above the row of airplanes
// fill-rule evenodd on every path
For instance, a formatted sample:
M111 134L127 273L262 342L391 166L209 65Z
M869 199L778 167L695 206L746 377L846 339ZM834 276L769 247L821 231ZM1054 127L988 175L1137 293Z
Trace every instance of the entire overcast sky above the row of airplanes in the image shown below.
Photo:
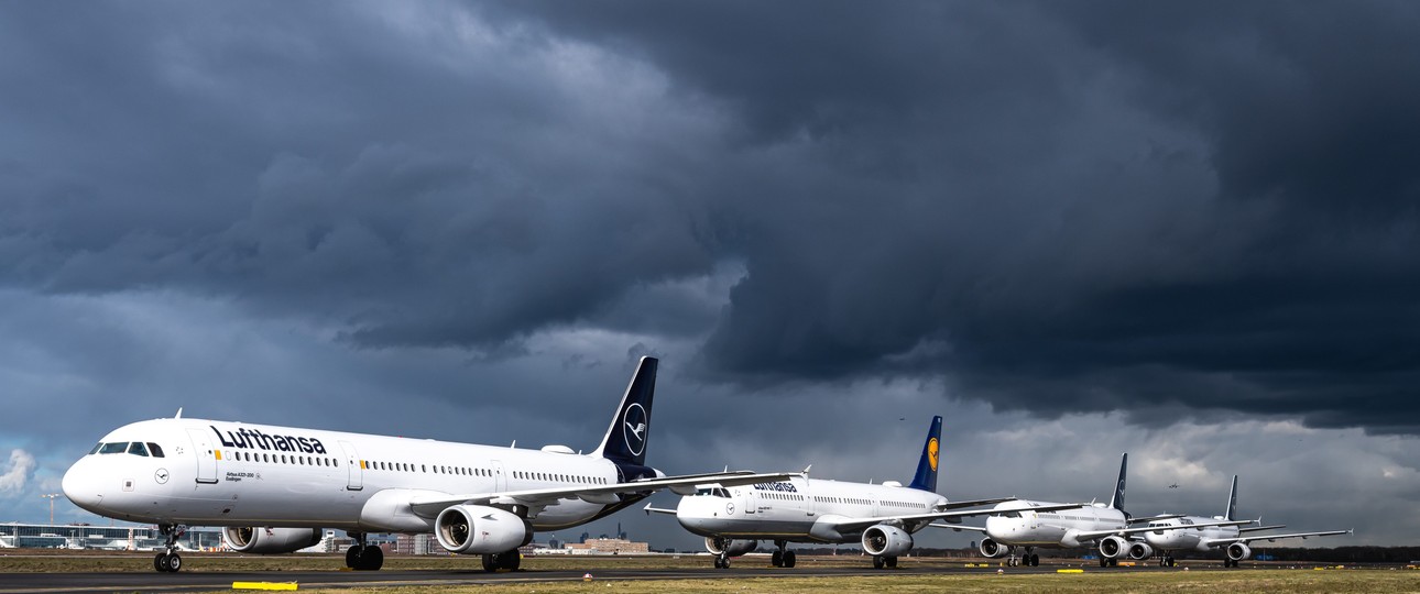
M0 522L179 407L591 449L655 354L665 472L906 481L941 414L953 499L1103 499L1127 451L1136 515L1221 513L1238 473L1245 516L1356 527L1308 544L1414 544L1417 28L0 3ZM699 540L586 530L616 520Z

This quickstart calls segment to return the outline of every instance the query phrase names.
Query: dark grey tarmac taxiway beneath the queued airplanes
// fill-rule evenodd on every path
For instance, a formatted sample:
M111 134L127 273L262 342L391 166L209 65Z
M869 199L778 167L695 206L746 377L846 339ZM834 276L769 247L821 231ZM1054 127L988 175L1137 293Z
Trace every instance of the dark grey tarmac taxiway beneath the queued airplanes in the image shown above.
M1010 567L1012 574L1055 573L1058 567ZM1129 571L1150 571L1159 567L1132 567ZM1092 568L1086 571L1115 571ZM747 577L842 577L842 576L922 576L922 574L994 574L995 567L920 566L895 570L870 567L797 567L768 568L604 568L595 580L713 580ZM399 587L399 585L479 585L514 583L582 581L581 571L521 570L486 573L481 570L382 570L382 571L179 571L168 573L0 573L0 594L16 593L111 593L111 591L226 591L234 581L297 583L301 590L332 587Z

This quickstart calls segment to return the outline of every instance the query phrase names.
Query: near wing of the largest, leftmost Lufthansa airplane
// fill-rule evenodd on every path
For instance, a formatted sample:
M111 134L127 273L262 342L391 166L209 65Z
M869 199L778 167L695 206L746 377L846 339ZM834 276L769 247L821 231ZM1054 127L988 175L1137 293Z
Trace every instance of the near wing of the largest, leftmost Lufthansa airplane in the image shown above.
M684 476L662 476L653 479L638 479L630 482L621 482L615 485L585 485L575 488L552 488L552 489L524 489L524 491L501 491L488 493L462 493L462 495L417 495L409 500L409 506L419 516L432 517L443 512L444 508L459 503L469 505L493 505L493 503L507 503L507 505L523 505L528 508L547 508L562 499L581 499L588 503L618 503L621 499L616 496L619 493L640 493L646 491L659 491L673 486L696 486L696 485L721 485L721 486L740 486L740 485L754 485L757 482L777 482L787 481L791 476L799 476L798 472L774 472L774 473L754 473L750 471L736 471L736 472L714 472L706 475L684 475Z

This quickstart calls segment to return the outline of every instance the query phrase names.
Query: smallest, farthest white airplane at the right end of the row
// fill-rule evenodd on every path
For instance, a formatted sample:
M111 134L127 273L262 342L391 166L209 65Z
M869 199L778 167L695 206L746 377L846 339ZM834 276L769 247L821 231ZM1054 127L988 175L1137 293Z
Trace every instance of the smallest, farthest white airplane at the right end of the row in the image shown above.
M1261 530L1274 530L1285 526L1252 526L1241 527L1238 525L1252 523L1250 520L1233 520L1233 513L1237 510L1238 505L1238 478L1233 476L1233 488L1228 492L1228 509L1223 516L1201 517L1201 516L1176 516L1176 517L1159 517L1149 523L1150 527L1197 527L1196 530L1166 530L1166 532L1146 532L1145 543L1133 543L1133 547L1143 547L1146 550L1137 551L1140 556L1135 559L1147 559L1157 550L1160 554L1159 564L1164 567L1173 567L1174 551L1200 551L1208 553L1217 549L1223 549L1227 557L1223 560L1224 567L1237 567L1238 561L1245 560L1252 556L1252 549L1248 543L1254 540L1268 540L1274 542L1278 539L1308 539L1312 536L1333 536L1333 534L1350 534L1352 530L1328 530L1328 532L1299 532L1294 534L1247 534ZM1221 520L1221 523L1218 522ZM1208 526L1211 525L1211 526ZM1198 527L1203 526L1203 527ZM1132 551L1133 557L1135 553Z

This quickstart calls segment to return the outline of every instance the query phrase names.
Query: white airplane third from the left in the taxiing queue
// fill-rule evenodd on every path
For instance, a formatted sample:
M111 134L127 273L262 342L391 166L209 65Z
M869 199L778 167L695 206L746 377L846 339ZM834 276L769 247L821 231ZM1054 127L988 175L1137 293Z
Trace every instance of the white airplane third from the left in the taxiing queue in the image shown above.
M1038 547L1076 549L1095 543L1099 547L1099 566L1118 566L1119 559L1130 554L1130 534L1150 530L1160 530L1156 526L1130 527L1130 523L1154 520L1154 516L1132 520L1125 512L1125 475L1129 465L1129 454L1119 459L1119 481L1115 482L1115 495L1109 505L1075 503L1061 508L1062 503L1047 503L1035 500L1008 500L998 503L991 516L985 519L985 527L980 526L950 526L932 525L951 530L984 532L978 549L985 557L1007 557L1007 564L1039 566L1041 556L1035 553ZM1210 522L1210 525L1213 525ZM1197 527L1197 525L1190 526ZM1166 527L1162 530L1179 530ZM1017 557L1017 549L1024 549L1024 554ZM1140 557L1143 559L1143 557Z

